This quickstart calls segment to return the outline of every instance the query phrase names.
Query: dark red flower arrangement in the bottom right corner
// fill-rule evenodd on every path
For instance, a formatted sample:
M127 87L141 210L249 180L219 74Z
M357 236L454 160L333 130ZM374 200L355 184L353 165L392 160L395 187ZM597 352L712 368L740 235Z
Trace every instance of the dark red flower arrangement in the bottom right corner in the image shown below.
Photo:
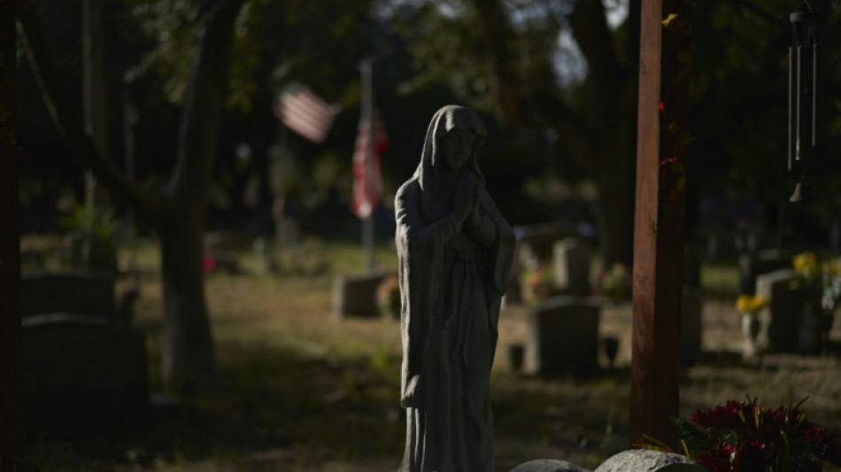
M800 406L775 410L748 401L698 409L691 421L675 421L683 453L710 472L820 472L822 461L841 466L841 442L806 419ZM656 439L643 447L668 450Z

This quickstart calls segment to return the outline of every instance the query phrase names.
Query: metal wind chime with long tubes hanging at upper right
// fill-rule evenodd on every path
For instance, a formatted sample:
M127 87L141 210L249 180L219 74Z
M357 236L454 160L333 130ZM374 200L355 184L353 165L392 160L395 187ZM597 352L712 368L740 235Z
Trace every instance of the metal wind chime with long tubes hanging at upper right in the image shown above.
M818 66L822 42L821 11L805 0L791 13L792 45L789 47L789 171L800 178L789 200L808 195L806 161L818 148Z

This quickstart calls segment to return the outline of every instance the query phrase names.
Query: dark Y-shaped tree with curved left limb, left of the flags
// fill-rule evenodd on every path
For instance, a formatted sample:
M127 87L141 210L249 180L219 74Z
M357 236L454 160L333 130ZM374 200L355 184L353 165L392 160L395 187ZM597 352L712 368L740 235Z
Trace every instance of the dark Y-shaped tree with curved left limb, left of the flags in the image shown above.
M215 381L202 273L204 215L228 87L232 30L242 4L243 0L202 4L189 56L178 161L167 190L158 193L128 180L84 132L81 111L62 89L63 78L50 58L32 5L19 3L21 37L59 134L114 197L134 206L158 229L165 313L162 375L166 389L180 394L205 391Z

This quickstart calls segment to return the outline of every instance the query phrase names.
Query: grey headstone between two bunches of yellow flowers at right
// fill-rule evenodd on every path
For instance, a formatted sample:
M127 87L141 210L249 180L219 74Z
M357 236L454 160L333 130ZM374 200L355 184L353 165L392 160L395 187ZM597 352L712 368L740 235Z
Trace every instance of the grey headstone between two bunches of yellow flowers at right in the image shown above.
M760 310L760 349L776 352L796 352L803 311L808 290L796 283L799 275L794 269L775 270L756 278L756 294L768 300Z

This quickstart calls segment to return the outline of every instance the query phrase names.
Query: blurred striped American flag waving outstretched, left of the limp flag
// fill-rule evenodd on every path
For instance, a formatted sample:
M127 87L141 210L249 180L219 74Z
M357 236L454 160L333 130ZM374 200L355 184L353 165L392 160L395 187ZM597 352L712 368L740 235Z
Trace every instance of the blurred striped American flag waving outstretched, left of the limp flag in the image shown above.
M303 85L287 88L274 102L274 117L313 143L324 141L341 110L338 104L328 104Z

